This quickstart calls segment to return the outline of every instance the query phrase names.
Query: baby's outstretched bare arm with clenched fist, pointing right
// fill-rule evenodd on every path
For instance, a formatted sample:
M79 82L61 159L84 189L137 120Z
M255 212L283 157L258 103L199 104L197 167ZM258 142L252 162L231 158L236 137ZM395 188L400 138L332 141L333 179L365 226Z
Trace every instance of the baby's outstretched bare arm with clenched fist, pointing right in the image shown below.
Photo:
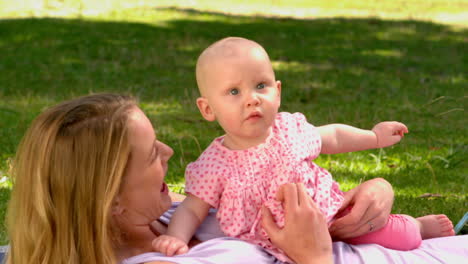
M336 154L373 148L388 147L398 143L408 128L395 121L381 122L372 130L343 124L331 124L317 128L322 138L324 154Z

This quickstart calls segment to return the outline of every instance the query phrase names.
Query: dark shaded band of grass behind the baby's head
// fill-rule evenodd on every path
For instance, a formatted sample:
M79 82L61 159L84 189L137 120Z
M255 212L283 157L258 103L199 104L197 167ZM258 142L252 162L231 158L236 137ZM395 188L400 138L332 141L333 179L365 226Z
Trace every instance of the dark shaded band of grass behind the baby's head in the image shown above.
M460 131L466 134L467 30L419 21L154 12L155 21L145 24L0 20L0 117L9 120L18 109L34 116L63 98L114 91L143 102L175 102L180 111L167 122L187 116L191 125L201 121L187 114L197 112L199 53L222 37L243 36L269 52L283 83L282 110L302 111L314 124L371 127L384 119L405 120L420 139L447 127L458 131L444 132L447 137L460 141ZM159 15L171 14L177 18L159 23ZM440 115L445 112L448 121Z

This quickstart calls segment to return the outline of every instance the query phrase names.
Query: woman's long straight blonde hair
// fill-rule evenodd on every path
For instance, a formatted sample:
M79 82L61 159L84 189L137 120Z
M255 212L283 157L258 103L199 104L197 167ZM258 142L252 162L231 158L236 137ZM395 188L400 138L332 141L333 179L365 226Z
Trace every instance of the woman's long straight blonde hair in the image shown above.
M131 97L96 94L40 114L11 176L7 263L115 263L110 216L130 154Z

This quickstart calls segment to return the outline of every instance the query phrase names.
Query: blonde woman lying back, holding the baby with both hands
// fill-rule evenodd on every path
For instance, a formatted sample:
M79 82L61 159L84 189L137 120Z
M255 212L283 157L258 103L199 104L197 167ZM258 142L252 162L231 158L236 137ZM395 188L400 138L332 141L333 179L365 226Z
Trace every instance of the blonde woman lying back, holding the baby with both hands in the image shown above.
M172 153L130 97L91 95L46 110L13 164L7 263L275 263L260 248L229 238L172 259L143 254L164 232L153 222L171 207L164 176ZM286 218L296 223L279 230L264 214L272 241L297 263L331 262L326 224L301 186L283 186L278 194ZM364 202L368 197L374 198ZM334 232L366 232L369 219L383 225L392 198L383 180L362 184L347 197L356 213Z

